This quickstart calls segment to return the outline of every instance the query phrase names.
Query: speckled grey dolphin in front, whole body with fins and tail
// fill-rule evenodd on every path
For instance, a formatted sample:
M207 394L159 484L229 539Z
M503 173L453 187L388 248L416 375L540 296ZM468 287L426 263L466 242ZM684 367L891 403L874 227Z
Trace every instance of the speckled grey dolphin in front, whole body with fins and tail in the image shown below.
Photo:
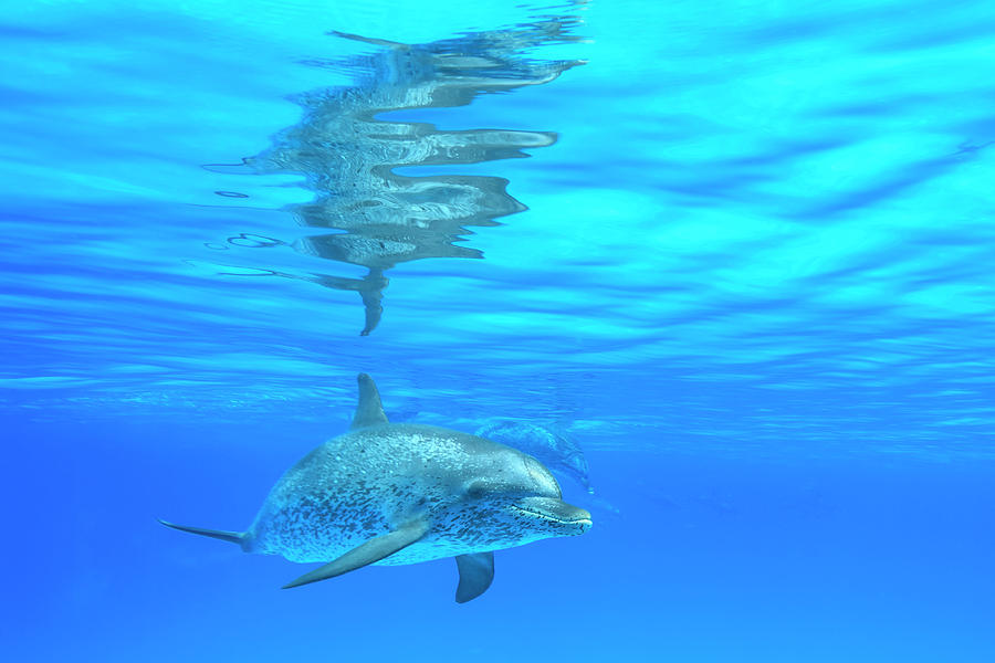
M590 528L590 513L565 503L531 455L444 428L390 423L373 378L359 373L358 382L349 432L287 470L249 529L160 523L245 552L323 562L284 589L367 565L455 557L459 603L491 586L494 550Z

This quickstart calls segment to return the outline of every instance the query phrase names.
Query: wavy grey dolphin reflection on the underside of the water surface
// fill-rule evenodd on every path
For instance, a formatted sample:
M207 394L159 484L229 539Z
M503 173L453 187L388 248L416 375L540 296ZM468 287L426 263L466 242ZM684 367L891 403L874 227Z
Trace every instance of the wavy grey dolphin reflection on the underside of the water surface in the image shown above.
M396 169L526 157L523 150L556 141L551 131L440 130L428 123L378 116L464 106L480 95L548 83L583 61L532 60L524 52L577 41L568 31L574 23L575 19L558 19L426 44L333 33L380 49L348 61L349 71L366 75L352 87L300 95L295 102L304 108L301 123L277 134L270 149L244 164L256 173L304 175L314 200L285 209L303 225L337 232L290 243L258 236L247 243L245 235L229 242L291 246L306 255L366 267L363 278L266 273L357 292L366 309L362 335L368 335L380 320L387 270L428 257L483 257L460 244L463 235L472 234L468 228L499 225L495 219L526 209L507 193L509 181L500 177L415 177L398 175Z

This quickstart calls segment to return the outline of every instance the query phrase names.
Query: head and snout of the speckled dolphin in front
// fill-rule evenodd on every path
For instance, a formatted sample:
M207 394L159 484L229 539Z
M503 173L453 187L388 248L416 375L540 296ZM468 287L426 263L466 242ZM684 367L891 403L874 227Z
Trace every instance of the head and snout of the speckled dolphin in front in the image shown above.
M464 499L479 514L476 526L491 530L506 547L590 529L590 513L562 497L559 484L542 463L509 449L501 471L470 482Z

